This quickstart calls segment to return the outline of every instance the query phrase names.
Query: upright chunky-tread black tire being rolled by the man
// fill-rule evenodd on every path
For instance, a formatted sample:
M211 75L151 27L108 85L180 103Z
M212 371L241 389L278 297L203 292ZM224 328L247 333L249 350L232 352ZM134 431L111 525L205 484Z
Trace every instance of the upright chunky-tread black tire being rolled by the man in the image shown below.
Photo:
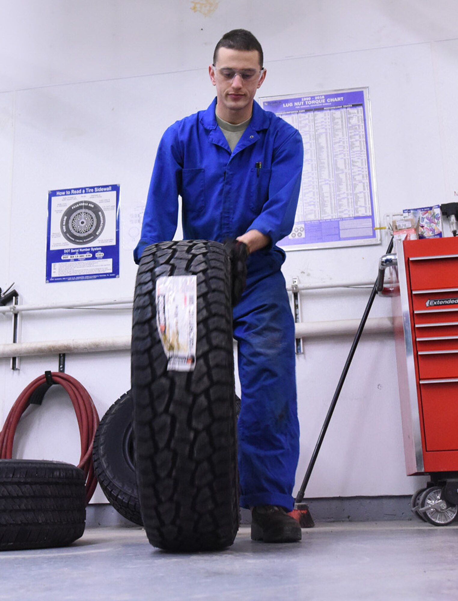
M194 371L168 371L156 279L197 276ZM151 545L222 549L239 526L230 265L218 242L145 249L133 304L132 397L141 513Z

